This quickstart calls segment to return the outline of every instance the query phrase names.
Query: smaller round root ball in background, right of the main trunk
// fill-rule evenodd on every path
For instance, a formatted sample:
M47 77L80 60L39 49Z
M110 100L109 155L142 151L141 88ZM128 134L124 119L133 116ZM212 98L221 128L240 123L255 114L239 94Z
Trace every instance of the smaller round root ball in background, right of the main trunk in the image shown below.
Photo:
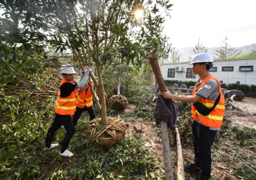
M124 109L126 109L128 105L128 100L123 95L113 95L109 99L109 107L116 112L122 112Z

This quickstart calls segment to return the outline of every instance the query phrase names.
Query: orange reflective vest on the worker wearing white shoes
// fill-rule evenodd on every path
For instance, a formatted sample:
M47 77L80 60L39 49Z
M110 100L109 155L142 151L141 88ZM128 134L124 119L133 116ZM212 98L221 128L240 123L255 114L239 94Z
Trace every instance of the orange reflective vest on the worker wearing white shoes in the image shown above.
M60 86L65 83L73 83L72 81L67 81L65 79L61 80ZM76 90L72 91L70 95L66 98L60 97L60 90L58 93L58 101L55 107L55 113L60 115L73 115L76 112Z

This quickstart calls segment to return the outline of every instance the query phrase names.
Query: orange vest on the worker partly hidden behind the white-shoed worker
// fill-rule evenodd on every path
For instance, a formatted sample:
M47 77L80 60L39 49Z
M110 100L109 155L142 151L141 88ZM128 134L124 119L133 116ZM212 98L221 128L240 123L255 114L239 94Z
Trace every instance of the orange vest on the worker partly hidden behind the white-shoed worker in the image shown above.
M92 82L91 82L92 83ZM92 87L94 88L94 84L92 83ZM77 99L76 99L76 106L79 108L91 107L93 105L92 102L92 92L90 87L88 88L87 92L85 91L81 93L77 93Z

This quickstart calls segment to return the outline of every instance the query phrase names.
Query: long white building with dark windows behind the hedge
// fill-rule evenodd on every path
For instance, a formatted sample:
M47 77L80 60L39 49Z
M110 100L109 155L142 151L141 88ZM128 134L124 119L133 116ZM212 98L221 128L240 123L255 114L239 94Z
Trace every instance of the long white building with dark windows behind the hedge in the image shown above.
M164 80L196 81L189 62L167 63L160 66ZM210 72L221 83L256 84L256 57L215 60Z

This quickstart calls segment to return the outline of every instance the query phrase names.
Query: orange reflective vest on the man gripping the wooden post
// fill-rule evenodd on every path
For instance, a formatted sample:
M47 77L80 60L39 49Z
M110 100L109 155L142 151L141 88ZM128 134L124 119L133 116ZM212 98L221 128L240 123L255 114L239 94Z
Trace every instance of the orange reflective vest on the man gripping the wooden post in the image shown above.
M219 93L220 93L220 101L217 104L217 106L215 106L215 108L213 109L213 111L207 115L207 116L203 116L202 114L198 113L198 111L196 110L195 106L192 105L191 108L191 112L193 115L193 119L196 121L197 119L199 119L199 121L208 127L216 127L219 128L221 127L222 124L222 120L225 114L225 99L222 95L221 92L221 88L220 88L220 81L215 78L213 75L209 75L207 76L199 85L198 90L202 87L202 85L204 85L207 81L209 80L216 80L219 84ZM196 83L197 85L197 83ZM193 96L196 94L196 85L194 87L194 91L193 91ZM201 102L204 106L206 106L207 108L211 108L214 105L215 101L211 101L209 99L200 99L199 102Z

